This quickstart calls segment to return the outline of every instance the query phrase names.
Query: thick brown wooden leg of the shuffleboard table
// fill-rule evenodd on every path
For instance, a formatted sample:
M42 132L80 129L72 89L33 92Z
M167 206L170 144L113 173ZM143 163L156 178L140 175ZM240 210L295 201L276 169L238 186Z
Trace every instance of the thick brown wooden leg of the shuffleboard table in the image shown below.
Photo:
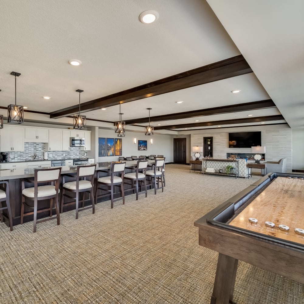
M211 304L227 304L229 300L233 302L237 263L237 259L219 253Z

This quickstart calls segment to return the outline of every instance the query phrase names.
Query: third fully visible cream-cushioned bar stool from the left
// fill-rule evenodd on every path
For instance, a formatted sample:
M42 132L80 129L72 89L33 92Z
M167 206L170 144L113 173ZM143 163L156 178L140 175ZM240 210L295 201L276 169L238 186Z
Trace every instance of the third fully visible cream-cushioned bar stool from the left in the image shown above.
M98 197L111 195L111 209L113 208L113 202L116 202L120 199L123 200L123 205L125 204L125 194L123 192L123 174L124 174L125 166L126 166L126 163L120 163L120 164L112 163L111 171L105 171L105 170L97 171L97 185L96 185L95 202L97 202ZM107 173L111 173L111 175L99 177L99 172L107 172ZM117 176L117 175L120 175L120 176ZM100 185L100 187L98 187L98 185ZM102 188L101 185L110 187L110 189ZM118 199L113 199L114 187L121 188L121 197ZM97 196L98 189L106 191L106 192L110 192L110 193Z

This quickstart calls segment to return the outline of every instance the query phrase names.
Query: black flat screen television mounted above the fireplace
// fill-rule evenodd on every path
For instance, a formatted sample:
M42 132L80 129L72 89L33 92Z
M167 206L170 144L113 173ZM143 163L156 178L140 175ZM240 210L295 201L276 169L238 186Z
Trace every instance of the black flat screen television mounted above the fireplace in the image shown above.
M261 145L261 131L229 133L229 148L251 148Z

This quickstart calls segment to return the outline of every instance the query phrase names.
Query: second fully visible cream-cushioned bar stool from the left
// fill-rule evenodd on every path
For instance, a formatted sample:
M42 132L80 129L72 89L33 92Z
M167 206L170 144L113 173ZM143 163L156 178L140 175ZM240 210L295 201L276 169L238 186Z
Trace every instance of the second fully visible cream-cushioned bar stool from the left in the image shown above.
M95 213L95 203L94 203L94 194L93 194L95 168L96 168L96 164L91 165L91 166L77 166L76 181L65 182L64 175L63 175L61 212L63 212L63 206L76 204L76 219L78 219L78 211L92 208L93 214ZM65 174L65 175L75 178L75 175L71 175L71 174ZM83 179L81 179L81 178L83 178ZM70 199L75 199L75 197L72 197L72 196L66 194L65 192L75 192L76 200L73 202L64 203L64 196L66 196ZM83 196L82 196L82 208L78 210L79 192L82 192ZM89 192L91 200L92 200L92 206L85 207L85 192Z

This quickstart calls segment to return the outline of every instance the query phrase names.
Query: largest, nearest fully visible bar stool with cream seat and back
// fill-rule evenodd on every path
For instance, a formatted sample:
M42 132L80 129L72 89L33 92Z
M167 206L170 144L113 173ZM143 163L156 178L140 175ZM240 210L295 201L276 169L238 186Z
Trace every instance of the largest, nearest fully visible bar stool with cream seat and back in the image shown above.
M57 225L60 224L59 218L59 178L60 178L60 168L51 169L35 169L34 170L34 181L27 178L22 179L22 201L21 201L21 221L23 224L24 216L34 215L34 232L36 232L37 223L42 223L49 221L51 219L57 219ZM34 184L34 187L25 188L24 182ZM48 184L43 186L38 186L39 184ZM53 200L55 198L55 208L56 216L52 217ZM50 208L38 209L38 201L43 199L50 199ZM34 201L34 206L28 205L25 200ZM24 205L34 209L33 212L24 213ZM47 219L42 219L37 221L37 213L50 211L50 217Z

